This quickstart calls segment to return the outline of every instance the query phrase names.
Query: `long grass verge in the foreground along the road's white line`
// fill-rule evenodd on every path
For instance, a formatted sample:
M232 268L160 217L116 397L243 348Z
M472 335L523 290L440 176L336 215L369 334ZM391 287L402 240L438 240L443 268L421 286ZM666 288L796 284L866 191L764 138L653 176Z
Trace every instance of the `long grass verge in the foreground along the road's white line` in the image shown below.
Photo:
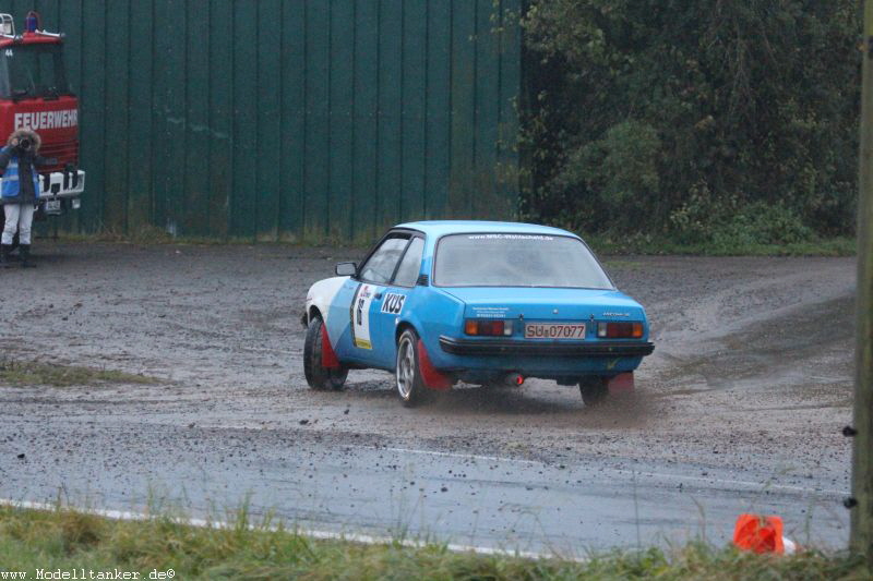
M190 526L170 517L110 520L65 508L0 507L0 572L139 572L172 569L175 579L870 579L861 560L806 550L758 556L689 544L672 550L611 552L585 561L457 553L439 544L364 545L315 541L276 526L250 526L241 510L229 526Z

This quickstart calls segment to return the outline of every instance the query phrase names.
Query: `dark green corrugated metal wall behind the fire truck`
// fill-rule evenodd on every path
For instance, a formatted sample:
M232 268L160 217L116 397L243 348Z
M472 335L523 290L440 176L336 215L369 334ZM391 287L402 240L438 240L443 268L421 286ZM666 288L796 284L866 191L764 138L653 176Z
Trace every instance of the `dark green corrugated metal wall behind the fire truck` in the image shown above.
M67 33L70 230L367 241L514 214L521 0L0 0Z

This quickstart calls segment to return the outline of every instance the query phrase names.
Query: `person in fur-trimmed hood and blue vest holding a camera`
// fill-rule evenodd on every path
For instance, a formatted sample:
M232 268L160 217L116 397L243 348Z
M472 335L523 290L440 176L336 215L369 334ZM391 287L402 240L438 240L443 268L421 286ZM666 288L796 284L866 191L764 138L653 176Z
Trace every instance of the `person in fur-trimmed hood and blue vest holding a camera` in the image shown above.
M0 267L9 268L9 254L15 231L19 232L19 254L22 267L36 266L31 262L31 225L34 210L39 205L39 173L36 166L52 160L39 155L39 135L28 129L12 133L5 147L0 149L0 171L3 185L0 204L3 205L5 223L0 244Z

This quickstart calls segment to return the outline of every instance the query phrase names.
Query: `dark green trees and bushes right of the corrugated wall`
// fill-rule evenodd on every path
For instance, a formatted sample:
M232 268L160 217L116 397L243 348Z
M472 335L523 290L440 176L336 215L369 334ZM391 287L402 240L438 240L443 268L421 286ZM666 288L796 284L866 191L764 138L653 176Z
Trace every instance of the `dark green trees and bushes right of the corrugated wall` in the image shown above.
M853 232L851 0L537 0L526 218L758 243Z

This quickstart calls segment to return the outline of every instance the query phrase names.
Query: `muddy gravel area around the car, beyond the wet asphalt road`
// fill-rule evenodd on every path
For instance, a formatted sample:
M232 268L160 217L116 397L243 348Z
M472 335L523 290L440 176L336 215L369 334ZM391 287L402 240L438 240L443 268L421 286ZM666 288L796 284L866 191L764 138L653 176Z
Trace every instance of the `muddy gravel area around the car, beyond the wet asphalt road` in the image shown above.
M850 446L839 429L850 417L853 258L608 262L653 323L657 347L636 394L588 409L577 389L531 380L406 410L383 373L351 372L342 392L312 391L303 379L307 289L360 251L41 242L37 253L39 268L2 276L8 296L28 296L0 313L4 353L159 383L116 385L99 399L84 388L26 398L0 388L4 420L62 414L97 432L266 429L327 444L686 462L847 483Z

